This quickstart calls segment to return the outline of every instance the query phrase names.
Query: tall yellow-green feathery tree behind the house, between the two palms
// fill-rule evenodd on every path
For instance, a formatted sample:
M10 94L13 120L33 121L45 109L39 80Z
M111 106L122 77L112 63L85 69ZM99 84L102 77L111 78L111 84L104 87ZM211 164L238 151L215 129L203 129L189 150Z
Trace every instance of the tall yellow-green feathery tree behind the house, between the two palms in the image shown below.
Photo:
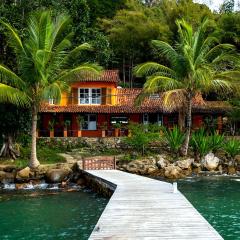
M147 8L134 0L112 19L103 19L102 26L114 49L116 61L121 63L123 81L129 79L131 87L133 66L152 55L151 39L167 40L172 34L161 10Z

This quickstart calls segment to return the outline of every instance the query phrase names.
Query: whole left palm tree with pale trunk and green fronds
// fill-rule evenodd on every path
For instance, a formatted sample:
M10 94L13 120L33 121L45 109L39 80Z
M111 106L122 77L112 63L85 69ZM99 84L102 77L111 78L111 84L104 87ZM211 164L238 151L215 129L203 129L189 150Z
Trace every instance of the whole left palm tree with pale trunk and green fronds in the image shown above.
M72 48L73 34L68 31L69 16L60 14L53 18L50 11L34 13L28 21L26 37L21 39L17 30L1 21L8 44L16 55L16 71L0 65L0 101L27 105L32 115L32 144L29 166L40 163L36 152L37 114L42 101L54 98L60 101L61 92L68 91L70 80L84 73L99 74L95 64L74 66L82 50L91 50L87 43Z

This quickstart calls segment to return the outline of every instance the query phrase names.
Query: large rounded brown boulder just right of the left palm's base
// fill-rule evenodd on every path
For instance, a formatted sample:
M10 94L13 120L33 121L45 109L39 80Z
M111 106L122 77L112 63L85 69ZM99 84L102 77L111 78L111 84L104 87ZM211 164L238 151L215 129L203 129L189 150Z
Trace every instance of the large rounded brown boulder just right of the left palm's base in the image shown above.
M71 169L50 169L46 173L46 180L50 183L60 183L67 180Z

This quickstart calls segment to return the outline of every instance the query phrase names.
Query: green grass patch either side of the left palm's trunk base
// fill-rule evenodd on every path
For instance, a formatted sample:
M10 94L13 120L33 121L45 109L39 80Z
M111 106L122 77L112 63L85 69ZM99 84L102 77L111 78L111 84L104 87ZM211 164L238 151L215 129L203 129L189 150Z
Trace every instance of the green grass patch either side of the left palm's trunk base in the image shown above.
M17 158L15 161L0 158L0 164L16 165L19 168L26 167L31 156L31 150L29 147L21 147L20 152L21 156ZM66 162L65 158L60 156L59 153L61 152L58 149L52 149L48 147L37 148L37 156L41 164L54 164Z

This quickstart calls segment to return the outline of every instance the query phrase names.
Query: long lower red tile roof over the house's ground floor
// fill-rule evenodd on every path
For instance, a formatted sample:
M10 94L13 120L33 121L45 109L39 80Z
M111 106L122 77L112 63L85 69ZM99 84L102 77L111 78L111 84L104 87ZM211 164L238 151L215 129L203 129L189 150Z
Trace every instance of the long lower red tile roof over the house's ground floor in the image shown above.
M72 112L72 113L154 113L176 112L178 109L168 109L163 105L163 99L157 94L146 98L141 106L135 105L135 99L141 89L117 89L116 105L42 105L40 112ZM229 109L230 105L221 101L204 101L201 95L193 99L193 112L221 113Z

